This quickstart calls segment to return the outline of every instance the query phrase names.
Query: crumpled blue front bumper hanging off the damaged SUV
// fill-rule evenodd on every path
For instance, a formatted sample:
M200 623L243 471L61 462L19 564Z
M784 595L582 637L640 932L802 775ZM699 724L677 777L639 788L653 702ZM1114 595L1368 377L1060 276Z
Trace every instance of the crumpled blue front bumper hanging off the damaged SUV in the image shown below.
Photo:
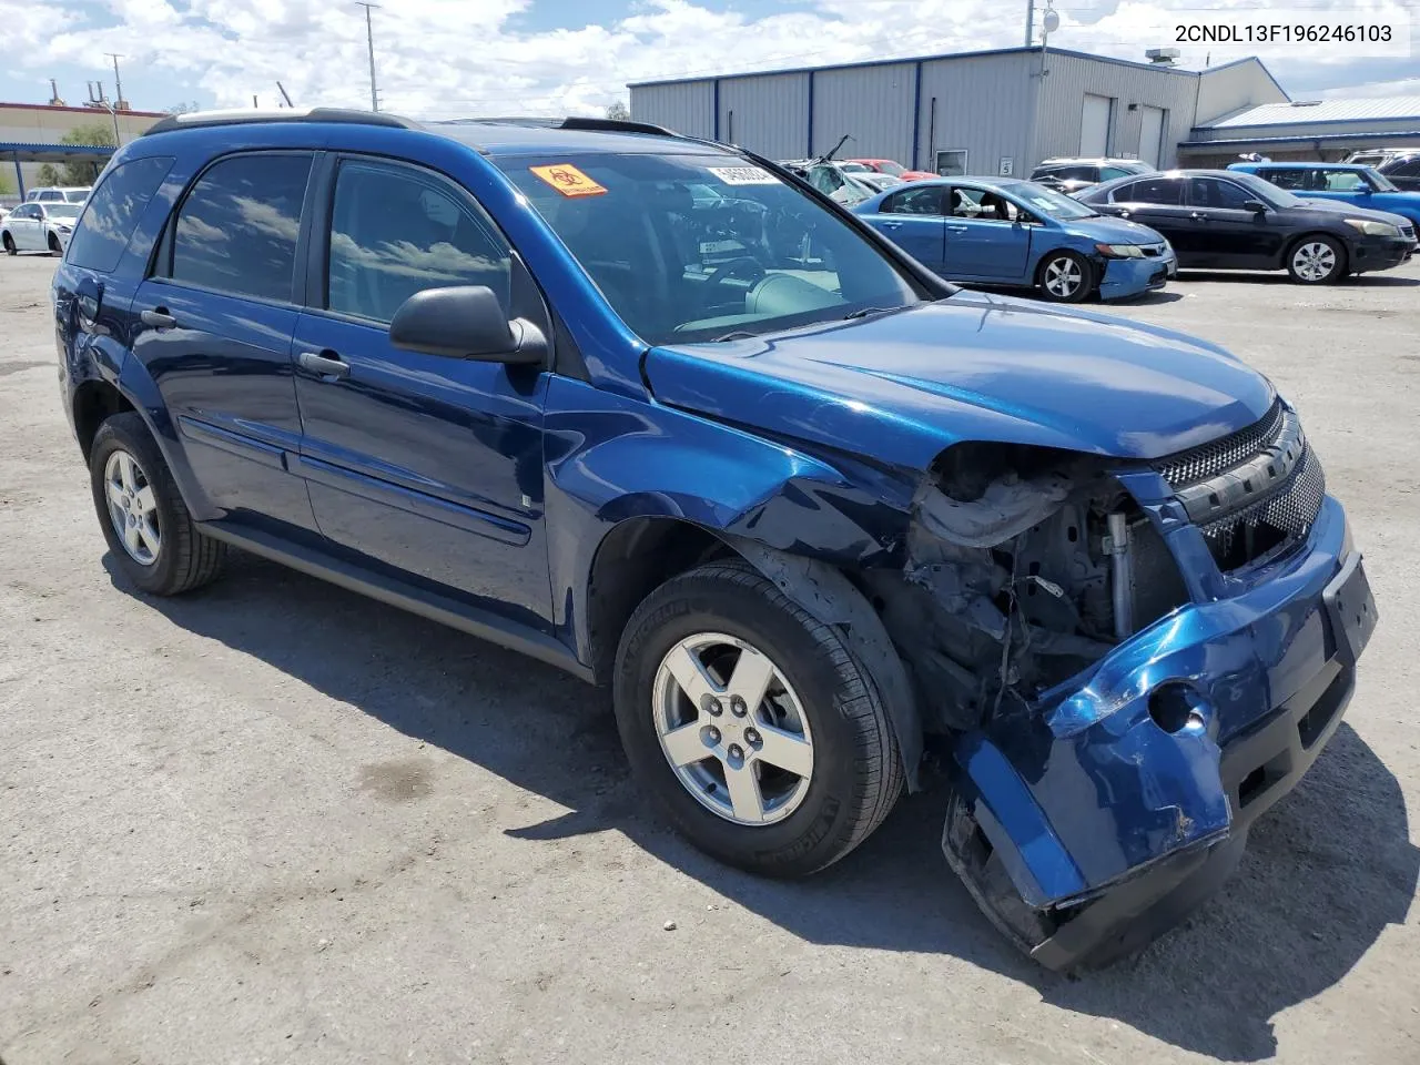
M1376 608L1326 497L1265 579L1115 648L1074 692L954 748L943 852L1049 968L1103 964L1193 909L1336 730Z

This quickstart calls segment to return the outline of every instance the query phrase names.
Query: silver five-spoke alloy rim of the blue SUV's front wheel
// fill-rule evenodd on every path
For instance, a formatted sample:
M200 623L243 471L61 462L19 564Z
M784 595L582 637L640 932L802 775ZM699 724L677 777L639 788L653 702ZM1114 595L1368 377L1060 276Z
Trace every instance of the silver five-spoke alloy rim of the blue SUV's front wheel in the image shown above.
M656 736L676 778L740 825L782 821L814 775L814 737L792 686L758 648L701 632L660 660Z

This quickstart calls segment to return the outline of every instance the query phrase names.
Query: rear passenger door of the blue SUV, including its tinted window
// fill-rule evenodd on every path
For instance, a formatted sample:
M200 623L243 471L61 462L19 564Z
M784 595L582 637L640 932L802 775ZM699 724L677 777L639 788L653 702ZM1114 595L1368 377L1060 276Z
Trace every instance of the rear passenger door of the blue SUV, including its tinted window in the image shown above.
M243 152L179 202L139 285L133 355L163 396L193 474L229 520L312 530L291 335L314 152Z

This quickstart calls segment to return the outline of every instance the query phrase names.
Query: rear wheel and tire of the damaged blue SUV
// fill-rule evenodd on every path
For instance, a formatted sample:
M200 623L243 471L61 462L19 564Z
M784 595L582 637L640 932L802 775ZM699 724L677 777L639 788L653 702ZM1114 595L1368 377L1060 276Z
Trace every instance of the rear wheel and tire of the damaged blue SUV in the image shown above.
M131 469L125 469L126 462L132 462ZM111 480L118 490L112 503ZM99 426L89 452L89 483L109 551L139 589L179 595L216 579L227 545L197 531L138 413L114 415ZM132 540L126 540L129 530Z

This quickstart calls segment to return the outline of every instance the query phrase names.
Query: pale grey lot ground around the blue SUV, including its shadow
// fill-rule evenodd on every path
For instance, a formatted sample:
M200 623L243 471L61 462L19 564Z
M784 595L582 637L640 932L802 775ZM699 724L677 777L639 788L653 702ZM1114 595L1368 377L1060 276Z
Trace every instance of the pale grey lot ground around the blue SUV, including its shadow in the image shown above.
M606 697L548 667L250 557L136 595L60 408L53 268L0 258L9 1065L1420 1061L1420 264L1118 308L1298 403L1382 625L1241 873L1082 980L977 914L940 791L763 882L662 828Z

